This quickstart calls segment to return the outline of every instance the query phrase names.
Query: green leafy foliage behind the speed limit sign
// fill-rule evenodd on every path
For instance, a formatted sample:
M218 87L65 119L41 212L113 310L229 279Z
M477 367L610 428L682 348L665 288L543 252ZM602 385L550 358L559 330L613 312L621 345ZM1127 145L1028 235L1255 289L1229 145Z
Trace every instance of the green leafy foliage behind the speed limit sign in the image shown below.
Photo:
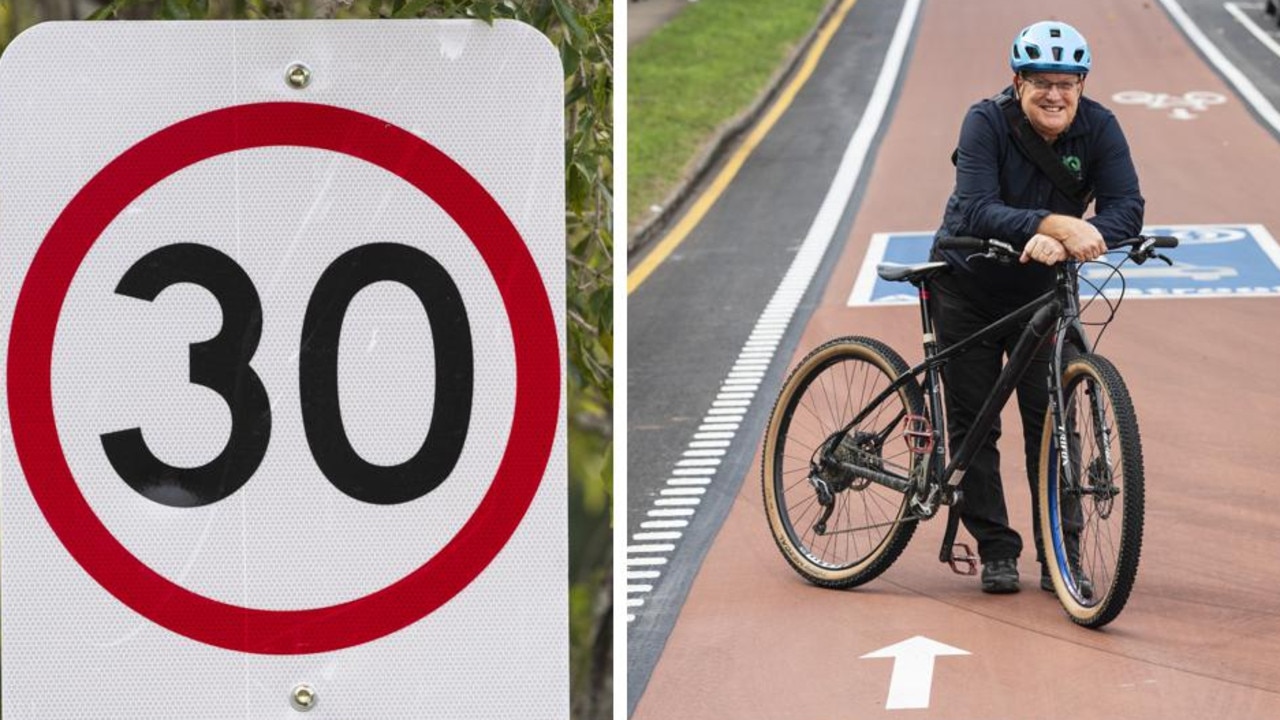
M573 717L607 719L613 696L613 0L0 0L0 53L24 28L55 19L458 17L529 23L556 44L564 67L570 673Z

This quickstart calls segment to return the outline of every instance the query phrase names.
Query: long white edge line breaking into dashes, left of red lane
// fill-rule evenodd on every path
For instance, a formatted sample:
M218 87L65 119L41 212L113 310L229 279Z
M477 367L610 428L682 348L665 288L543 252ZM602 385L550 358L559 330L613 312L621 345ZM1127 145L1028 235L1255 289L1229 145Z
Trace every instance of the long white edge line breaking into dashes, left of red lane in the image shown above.
M893 38L890 41L888 50L884 54L884 64L881 67L876 87L872 90L872 96L867 102L867 109L863 111L861 120L858 123L858 129L854 131L854 136L845 149L840 169L836 172L827 196L822 201L818 215L814 218L813 224L809 225L809 232L800 243L800 251L796 252L795 260L787 268L787 273L774 291L773 297L756 319L751 334L742 343L737 361L730 369L716 401L712 402L712 407L707 410L707 415L698 428L699 434L694 436L682 457L676 461L676 468L671 471L671 477L666 483L668 487L662 491L663 496L705 493L707 489L704 487L689 486L710 484L721 460L719 457L703 457L701 454L716 452L724 455L726 452L724 450L709 450L712 446L707 445L705 441L726 441L723 446L728 446L737 434L739 425L745 418L746 407L755 400L760 379L764 378L765 370L773 363L774 351L791 325L791 318L795 315L800 300L809 288L809 283L813 281L818 265L822 263L822 256L827 252L827 247L836 234L840 217L844 214L845 206L849 204L854 188L858 186L858 178L861 174L863 165L867 163L872 141L884 119L884 111L888 108L893 86L897 83L897 76L902 67L902 56L906 53L906 44L910 38L911 28L915 26L919 8L920 0L906 0L904 3L902 14L899 17L897 27L893 29ZM716 433L717 437L707 437L708 433ZM721 446L717 445L714 447ZM700 502L700 498L691 497L689 500L694 505ZM676 503L676 500L671 497L657 498L654 500L655 509L649 510L646 515L649 518L680 515L687 519L645 520L640 523L640 528L644 530L660 530L664 528L687 527L696 509L669 507ZM630 556L636 547L653 547L639 543L659 539L653 537L654 534L657 533L644 532L632 536L631 539L637 544L627 546L628 568L662 565L667 561L666 557L644 556L644 552L636 552L636 555L641 555L640 557ZM673 534L678 537L678 533ZM675 543L671 544L675 548ZM653 578L639 578L635 575L635 571L628 570L627 579L657 579L657 573L654 573ZM634 592L644 596L653 592L654 587L655 583L628 584L627 593L631 594ZM643 605L644 597L627 598L627 607L641 607ZM634 623L636 615L634 612L627 614L627 623Z

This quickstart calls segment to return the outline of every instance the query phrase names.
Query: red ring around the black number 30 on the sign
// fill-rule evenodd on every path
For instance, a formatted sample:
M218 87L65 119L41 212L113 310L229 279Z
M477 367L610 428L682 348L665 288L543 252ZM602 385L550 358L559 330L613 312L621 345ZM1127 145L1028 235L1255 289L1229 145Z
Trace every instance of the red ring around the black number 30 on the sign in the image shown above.
M516 404L493 483L458 533L396 583L307 610L257 610L193 593L125 548L86 501L54 418L52 350L72 281L99 236L134 199L209 158L268 146L315 147L378 165L434 200L467 234L497 281L511 322ZM547 288L520 232L461 165L378 118L328 105L262 102L214 110L138 142L72 199L40 246L14 310L9 402L27 483L72 557L120 602L188 638L243 652L303 655L394 633L471 583L524 519L550 456L559 418L559 342Z

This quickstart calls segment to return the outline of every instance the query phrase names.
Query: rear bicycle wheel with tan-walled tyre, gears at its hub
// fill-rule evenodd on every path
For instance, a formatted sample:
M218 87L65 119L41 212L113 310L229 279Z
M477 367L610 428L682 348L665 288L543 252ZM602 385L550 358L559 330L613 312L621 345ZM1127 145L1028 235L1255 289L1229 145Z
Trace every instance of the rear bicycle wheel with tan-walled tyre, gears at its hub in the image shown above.
M888 346L849 337L810 352L787 377L764 436L764 509L787 562L831 588L863 584L893 564L915 533L910 495L823 465L819 456L911 477L924 398L911 378L836 445L847 425L908 365ZM913 427L910 429L919 429ZM846 465L847 468L847 465Z

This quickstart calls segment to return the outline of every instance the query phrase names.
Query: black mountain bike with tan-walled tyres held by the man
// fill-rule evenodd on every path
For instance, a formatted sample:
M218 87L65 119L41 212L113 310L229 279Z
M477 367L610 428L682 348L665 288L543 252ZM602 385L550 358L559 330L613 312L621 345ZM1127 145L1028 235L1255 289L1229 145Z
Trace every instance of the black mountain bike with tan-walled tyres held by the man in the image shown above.
M1009 243L940 238L970 260L1016 263ZM1123 300L1125 263L1160 259L1178 238L1151 236L1111 243ZM1091 263L1092 264L1092 263ZM1082 323L1080 264L1060 263L1053 288L948 347L938 346L929 282L947 263L881 264L886 281L909 282L920 301L924 360L909 368L868 337L832 340L790 373L764 436L762 486L773 538L791 566L829 588L867 583L906 548L920 520L963 502L960 480L1001 409L1044 342L1052 343L1048 409L1039 455L1038 505L1046 566L1070 619L1087 628L1112 621L1129 600L1142 552L1143 466L1138 420L1120 373L1092 351ZM1108 277L1108 279L1110 279ZM1102 302L1101 284L1084 306ZM951 448L942 404L942 368L986 340L1025 323L995 388L964 442ZM1101 332L1098 334L1101 336ZM959 512L948 512L940 560L960 574L977 559L956 543Z

